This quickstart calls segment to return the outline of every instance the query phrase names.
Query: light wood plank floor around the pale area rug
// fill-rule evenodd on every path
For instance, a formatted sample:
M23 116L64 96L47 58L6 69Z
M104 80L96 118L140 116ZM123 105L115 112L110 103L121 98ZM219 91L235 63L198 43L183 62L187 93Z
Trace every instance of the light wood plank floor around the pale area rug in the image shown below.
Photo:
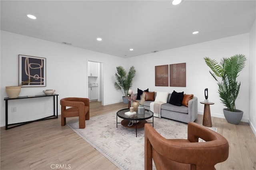
M100 102L91 102L90 116L125 107L123 103L101 106ZM77 119L67 118L67 123ZM198 115L196 123L202 124L202 115ZM256 137L248 123L232 125L212 117L212 125L230 145L228 160L217 164L216 169L255 170ZM61 127L60 117L8 130L1 127L0 132L1 170L118 170L68 126Z

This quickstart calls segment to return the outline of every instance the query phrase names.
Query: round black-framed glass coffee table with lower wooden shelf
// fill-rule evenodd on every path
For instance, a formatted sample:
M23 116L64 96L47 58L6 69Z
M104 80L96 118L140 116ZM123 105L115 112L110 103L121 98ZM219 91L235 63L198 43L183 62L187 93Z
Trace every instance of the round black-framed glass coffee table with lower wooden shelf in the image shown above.
M130 109L121 109L120 111L118 111L116 113L116 127L118 123L121 123L121 125L123 125L124 127L127 128L136 128L136 137L137 137L137 128L142 128L144 127L145 123L152 123L152 126L154 127L154 117L153 117L153 112L145 109L145 113L144 114L134 114L134 115L126 115L126 112L129 112ZM124 120L122 120L121 122L117 122L117 117L120 117ZM152 118L152 122L147 122L146 119L150 119ZM128 126L130 124L130 121L139 121L138 123L133 123L132 126Z

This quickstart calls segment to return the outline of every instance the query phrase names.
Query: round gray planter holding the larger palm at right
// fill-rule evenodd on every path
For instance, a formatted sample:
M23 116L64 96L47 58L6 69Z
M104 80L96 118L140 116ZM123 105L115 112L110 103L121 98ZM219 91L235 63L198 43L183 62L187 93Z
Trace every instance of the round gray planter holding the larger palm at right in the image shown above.
M230 111L229 109L223 109L224 116L228 123L237 125L243 117L244 112L238 109L235 109L235 112Z

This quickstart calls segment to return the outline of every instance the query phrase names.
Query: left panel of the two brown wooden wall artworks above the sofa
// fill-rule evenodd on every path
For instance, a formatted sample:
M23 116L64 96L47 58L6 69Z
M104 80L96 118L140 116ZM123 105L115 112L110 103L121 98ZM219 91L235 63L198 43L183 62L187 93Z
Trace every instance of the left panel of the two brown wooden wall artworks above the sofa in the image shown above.
M155 86L168 86L168 65L155 66Z

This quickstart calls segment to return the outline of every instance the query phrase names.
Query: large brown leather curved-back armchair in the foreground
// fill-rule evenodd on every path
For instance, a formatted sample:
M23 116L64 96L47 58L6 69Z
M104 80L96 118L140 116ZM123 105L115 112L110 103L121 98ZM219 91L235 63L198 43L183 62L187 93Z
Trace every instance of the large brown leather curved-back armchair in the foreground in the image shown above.
M145 170L152 170L152 158L157 170L214 170L228 149L226 138L194 122L188 123L188 139L166 139L145 124Z

